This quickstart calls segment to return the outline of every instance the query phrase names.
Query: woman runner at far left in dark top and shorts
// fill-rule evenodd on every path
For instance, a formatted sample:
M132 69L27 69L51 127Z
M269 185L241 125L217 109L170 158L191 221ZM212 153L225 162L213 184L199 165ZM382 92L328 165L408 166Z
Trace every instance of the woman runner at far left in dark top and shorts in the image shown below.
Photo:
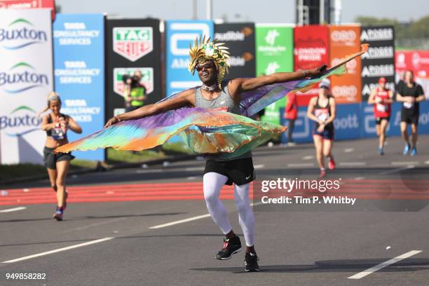
M71 153L54 153L55 148L67 144L67 130L81 134L82 128L70 116L60 113L61 99L57 93L48 95L46 109L50 114L43 116L41 129L46 131L45 148L43 149L43 161L48 170L50 186L57 193L57 210L53 218L62 221L63 213L67 207L67 196L65 178L69 170L70 161L74 159Z

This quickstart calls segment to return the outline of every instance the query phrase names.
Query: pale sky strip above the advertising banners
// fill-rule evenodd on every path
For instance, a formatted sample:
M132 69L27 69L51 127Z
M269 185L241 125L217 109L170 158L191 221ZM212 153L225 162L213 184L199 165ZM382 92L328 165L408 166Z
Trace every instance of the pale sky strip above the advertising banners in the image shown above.
M107 13L123 18L184 20L193 16L194 0L56 0L62 13ZM228 22L293 23L295 0L212 0L213 18ZM334 1L334 0L332 0ZM198 18L205 19L206 0L197 0ZM342 22L357 16L395 18L402 22L429 15L428 0L342 0Z

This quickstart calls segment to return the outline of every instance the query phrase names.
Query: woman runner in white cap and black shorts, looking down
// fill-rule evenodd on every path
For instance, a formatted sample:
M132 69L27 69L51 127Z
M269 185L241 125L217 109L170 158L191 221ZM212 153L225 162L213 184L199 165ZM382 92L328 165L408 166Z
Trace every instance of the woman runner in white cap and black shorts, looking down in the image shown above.
M319 85L319 95L311 98L307 110L308 118L315 121L313 140L320 168L319 179L326 176L325 157L329 158L329 169L335 169L332 145L334 144L336 102L330 92L330 88L331 81L329 81L329 79L323 79Z

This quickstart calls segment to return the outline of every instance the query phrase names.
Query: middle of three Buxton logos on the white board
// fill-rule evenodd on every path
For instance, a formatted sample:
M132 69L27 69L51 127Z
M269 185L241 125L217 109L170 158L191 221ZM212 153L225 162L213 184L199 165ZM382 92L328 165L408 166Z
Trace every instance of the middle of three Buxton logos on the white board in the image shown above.
M37 72L27 62L18 62L8 71L0 71L0 88L6 93L22 93L48 84L48 75Z

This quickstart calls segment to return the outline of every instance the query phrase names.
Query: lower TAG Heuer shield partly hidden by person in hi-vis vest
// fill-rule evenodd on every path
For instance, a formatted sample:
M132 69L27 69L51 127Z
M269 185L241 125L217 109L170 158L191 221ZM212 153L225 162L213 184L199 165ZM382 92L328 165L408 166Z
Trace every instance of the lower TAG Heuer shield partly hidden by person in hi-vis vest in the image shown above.
M114 92L123 96L125 84L122 81L123 75L132 76L135 71L139 70L142 73L140 83L146 88L146 94L149 95L154 91L154 69L151 67L118 67L114 69Z

